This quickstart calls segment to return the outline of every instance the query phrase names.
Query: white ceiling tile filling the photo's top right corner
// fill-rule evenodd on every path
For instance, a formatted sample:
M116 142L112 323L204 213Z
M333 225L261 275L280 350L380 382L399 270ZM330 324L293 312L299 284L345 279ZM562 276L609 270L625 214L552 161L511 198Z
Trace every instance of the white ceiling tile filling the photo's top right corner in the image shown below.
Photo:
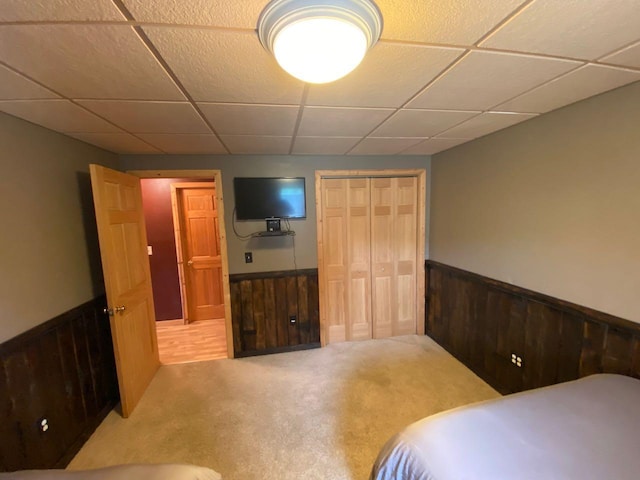
M480 46L595 60L638 40L638 0L536 1Z

